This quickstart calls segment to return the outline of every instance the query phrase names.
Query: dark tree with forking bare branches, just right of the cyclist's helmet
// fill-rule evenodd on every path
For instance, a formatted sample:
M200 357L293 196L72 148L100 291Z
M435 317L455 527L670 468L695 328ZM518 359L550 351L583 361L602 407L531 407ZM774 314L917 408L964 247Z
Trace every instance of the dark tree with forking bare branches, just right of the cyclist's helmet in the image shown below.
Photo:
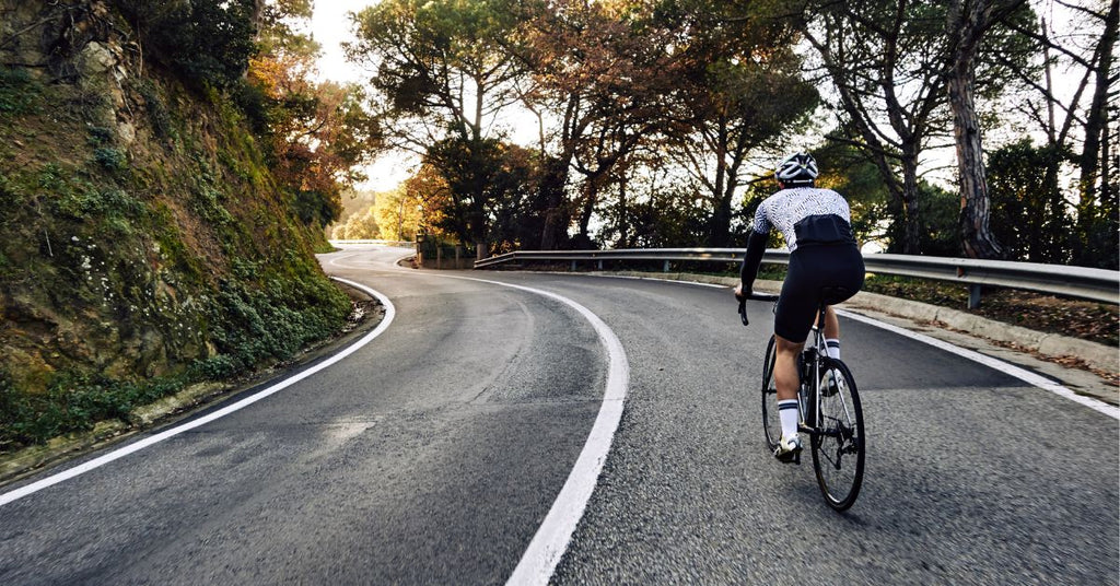
M832 138L869 152L905 218L903 251L917 254L920 156L945 127L944 52L939 47L944 15L906 0L810 1L801 10L794 24L820 57L846 115L843 133Z

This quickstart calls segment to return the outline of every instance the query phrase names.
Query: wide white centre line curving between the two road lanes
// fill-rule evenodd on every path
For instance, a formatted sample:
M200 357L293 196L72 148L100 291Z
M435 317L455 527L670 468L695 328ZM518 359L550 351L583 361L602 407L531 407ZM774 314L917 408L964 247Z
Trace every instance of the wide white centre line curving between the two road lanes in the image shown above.
M450 275L440 275L440 277L511 287L560 301L579 311L585 319L590 322L595 333L599 335L599 339L606 346L609 366L599 415L595 418L595 425L591 426L591 432L587 436L584 450L579 453L579 458L576 459L576 465L568 474L563 487L560 489L560 494L553 501L552 508L549 509L541 522L541 527L536 529L536 533L521 556L517 567L513 569L513 574L506 580L507 586L547 585L557 564L560 562L560 557L563 556L568 543L571 542L576 525L584 517L584 510L587 509L587 502L591 499L595 485L599 481L599 473L603 472L603 464L610 450L615 430L618 429L618 422L622 420L623 402L626 399L626 388L629 384L629 362L626 360L626 351L623 348L622 342L618 341L618 336L599 316L567 297L543 289L502 281Z

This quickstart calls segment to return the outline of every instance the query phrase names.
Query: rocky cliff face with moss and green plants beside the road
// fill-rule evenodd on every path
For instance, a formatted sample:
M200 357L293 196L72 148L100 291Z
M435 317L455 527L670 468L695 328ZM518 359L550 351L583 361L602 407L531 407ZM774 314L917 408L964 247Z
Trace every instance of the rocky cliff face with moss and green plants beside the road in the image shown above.
M282 359L348 310L239 109L137 38L105 2L0 0L0 427L24 426L0 449L49 432L40 411L112 416L99 390Z

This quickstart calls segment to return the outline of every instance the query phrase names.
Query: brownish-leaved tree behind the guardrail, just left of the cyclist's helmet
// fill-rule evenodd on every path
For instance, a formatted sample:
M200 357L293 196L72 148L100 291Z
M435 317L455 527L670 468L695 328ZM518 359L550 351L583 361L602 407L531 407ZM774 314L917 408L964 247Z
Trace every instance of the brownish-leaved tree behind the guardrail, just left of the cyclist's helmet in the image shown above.
M678 22L681 74L674 81L679 118L668 134L678 159L708 194L712 215L704 240L726 247L748 155L781 142L819 96L801 76L794 35L782 21L725 2L669 8L663 18ZM729 15L721 12L728 9Z

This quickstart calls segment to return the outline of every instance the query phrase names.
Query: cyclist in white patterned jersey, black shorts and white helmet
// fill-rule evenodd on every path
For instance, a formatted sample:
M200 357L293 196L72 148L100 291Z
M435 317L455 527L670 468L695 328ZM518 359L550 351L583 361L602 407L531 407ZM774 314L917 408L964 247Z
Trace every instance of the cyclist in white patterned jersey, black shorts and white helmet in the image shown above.
M790 267L774 311L775 362L778 417L782 438L774 457L792 462L801 452L797 435L797 355L815 320L822 287L843 288L847 297L864 286L864 258L851 231L848 202L831 189L815 186L816 161L797 152L782 159L774 171L781 190L767 197L755 213L754 230L747 239L735 289L738 300L750 295L758 266L766 250L771 227L776 226L790 248ZM824 316L829 356L840 357L840 325L832 307Z

